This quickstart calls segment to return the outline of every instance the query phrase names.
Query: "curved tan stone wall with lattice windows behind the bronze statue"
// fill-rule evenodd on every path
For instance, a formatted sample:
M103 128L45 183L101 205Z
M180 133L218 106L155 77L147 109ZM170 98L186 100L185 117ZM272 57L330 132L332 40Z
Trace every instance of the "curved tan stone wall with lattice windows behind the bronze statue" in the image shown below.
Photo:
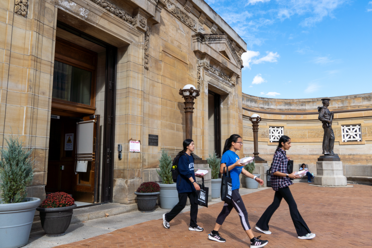
M321 98L269 99L243 93L244 154L253 154L252 124L248 117L257 113L260 157L272 162L278 146L275 132L291 138L287 154L295 167L302 163L317 174L317 158L322 155L323 128L317 107ZM372 184L372 94L330 97L328 109L334 112L332 128L334 152L343 162L343 173L350 182ZM270 137L271 135L271 137Z

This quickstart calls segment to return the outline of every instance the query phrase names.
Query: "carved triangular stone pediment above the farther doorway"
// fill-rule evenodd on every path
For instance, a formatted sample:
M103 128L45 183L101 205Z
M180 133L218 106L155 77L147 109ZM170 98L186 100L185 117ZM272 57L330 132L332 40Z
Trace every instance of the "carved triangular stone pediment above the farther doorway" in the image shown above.
M232 64L238 68L243 68L243 60L240 55L237 54L235 49L232 47L230 41L227 38L227 35L219 34L202 34L196 33L193 35L193 42L199 42L201 44L207 43L215 52L218 52L223 58L228 59ZM200 51L198 45L194 46L194 52ZM205 51L200 51L205 52ZM211 54L210 54L211 55Z

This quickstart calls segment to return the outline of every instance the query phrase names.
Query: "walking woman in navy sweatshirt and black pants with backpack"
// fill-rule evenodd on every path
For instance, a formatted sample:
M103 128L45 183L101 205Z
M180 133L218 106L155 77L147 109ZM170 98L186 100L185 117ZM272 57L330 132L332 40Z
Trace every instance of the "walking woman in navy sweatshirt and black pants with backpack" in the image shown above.
M194 158L191 155L195 149L194 141L192 139L185 139L183 141L183 150L177 156L181 156L178 160L178 177L177 177L177 191L179 202L170 210L169 213L163 215L163 225L169 229L169 222L174 219L186 206L187 197L190 199L190 231L201 232L204 229L198 226L196 218L198 217L198 204L196 203L197 196L195 190L200 190L199 185L195 181L194 173Z

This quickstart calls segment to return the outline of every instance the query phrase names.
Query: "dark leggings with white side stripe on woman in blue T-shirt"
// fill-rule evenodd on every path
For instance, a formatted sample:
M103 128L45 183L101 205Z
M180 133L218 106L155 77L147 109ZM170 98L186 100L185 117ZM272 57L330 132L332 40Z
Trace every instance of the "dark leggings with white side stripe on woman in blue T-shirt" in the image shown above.
M216 223L219 225L222 225L233 207L235 208L236 212L238 212L239 214L240 223L241 223L241 226L243 226L243 229L246 231L251 229L249 222L248 222L248 212L239 194L239 189L232 191L231 203L224 204L224 207L222 208L221 213L219 213L217 217Z

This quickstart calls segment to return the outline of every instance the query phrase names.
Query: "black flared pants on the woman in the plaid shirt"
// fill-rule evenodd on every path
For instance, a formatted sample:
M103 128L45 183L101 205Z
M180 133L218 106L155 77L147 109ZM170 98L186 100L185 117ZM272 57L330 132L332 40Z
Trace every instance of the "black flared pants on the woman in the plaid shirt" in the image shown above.
M269 221L271 216L273 216L276 209L278 209L282 198L288 203L289 212L291 213L291 218L293 224L295 225L295 229L298 236L304 236L308 233L311 233L310 229L307 227L305 220L302 219L300 213L297 209L297 204L295 199L293 199L291 190L289 187L282 188L278 191L275 191L274 201L271 203L269 207L267 207L266 211L263 213L261 218L258 220L256 226L264 231L269 231Z

